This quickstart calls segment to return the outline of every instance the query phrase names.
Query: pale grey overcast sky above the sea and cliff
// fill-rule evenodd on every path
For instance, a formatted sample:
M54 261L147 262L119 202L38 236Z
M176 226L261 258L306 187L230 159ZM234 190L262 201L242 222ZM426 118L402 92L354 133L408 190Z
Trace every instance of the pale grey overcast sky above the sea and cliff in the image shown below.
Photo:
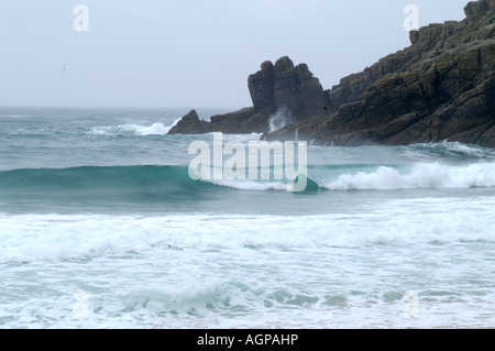
M466 2L0 0L0 106L241 108L248 76L285 55L328 89L409 45L407 4L422 26Z

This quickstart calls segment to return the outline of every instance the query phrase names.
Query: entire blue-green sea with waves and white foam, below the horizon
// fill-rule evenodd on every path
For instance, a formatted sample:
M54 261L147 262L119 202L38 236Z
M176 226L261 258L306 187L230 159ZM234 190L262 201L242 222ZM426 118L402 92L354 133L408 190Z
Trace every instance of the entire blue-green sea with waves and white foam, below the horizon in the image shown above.
M190 179L186 112L0 109L0 328L495 326L494 150L309 145L297 194Z

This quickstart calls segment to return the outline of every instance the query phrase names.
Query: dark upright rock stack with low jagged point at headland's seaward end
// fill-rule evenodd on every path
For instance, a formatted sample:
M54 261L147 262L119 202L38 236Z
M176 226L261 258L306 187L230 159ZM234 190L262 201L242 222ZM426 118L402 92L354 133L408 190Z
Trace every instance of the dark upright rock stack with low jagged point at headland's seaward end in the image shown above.
M294 66L286 56L275 65L264 62L261 70L249 76L248 88L253 107L212 116L210 122L199 120L193 110L168 133L264 133L270 131L270 120L280 109L289 111L290 121L297 124L324 116L327 102L320 81L306 64Z

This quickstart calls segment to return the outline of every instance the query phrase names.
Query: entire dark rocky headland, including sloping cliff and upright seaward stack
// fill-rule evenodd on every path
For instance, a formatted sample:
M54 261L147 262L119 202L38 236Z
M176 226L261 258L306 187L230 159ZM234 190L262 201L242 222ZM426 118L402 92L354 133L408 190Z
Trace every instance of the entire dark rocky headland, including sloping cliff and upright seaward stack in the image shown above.
M495 0L470 2L461 22L410 32L411 45L323 90L305 64L262 64L248 79L253 107L170 132L264 133L318 144L409 144L443 140L495 146ZM277 110L290 124L271 131Z

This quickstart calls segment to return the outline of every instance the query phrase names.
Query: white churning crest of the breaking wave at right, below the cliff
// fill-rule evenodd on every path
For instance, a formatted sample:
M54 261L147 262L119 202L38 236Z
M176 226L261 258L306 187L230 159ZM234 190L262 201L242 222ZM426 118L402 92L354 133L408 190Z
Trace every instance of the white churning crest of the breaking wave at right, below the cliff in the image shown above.
M419 163L407 173L389 166L375 172L342 174L324 188L331 190L395 190L415 188L473 188L495 187L495 163L442 165Z

